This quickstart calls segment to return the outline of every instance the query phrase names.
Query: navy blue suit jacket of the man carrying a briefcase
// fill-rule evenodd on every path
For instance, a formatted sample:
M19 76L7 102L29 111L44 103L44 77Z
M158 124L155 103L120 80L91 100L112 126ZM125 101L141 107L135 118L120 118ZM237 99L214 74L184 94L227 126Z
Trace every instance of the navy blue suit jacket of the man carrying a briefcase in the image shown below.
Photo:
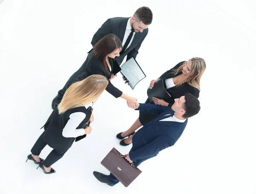
M129 152L129 157L134 162L154 157L159 151L174 145L188 122L187 119L184 123L159 121L166 114L170 114L170 117L174 115L174 111L168 106L140 103L137 110L159 115L134 134L133 146Z

